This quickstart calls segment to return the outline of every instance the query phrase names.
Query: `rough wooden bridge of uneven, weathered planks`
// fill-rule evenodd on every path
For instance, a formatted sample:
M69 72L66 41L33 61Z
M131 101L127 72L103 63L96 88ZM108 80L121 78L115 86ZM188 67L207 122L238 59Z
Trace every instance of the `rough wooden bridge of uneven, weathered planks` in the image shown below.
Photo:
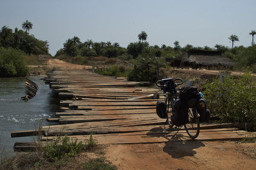
M184 129L173 137L176 130L157 117L156 102L164 99L163 92L148 87L148 82L129 82L86 70L61 70L48 73L45 83L61 98L61 112L56 112L56 118L47 119L59 125L12 132L12 137L42 133L44 143L56 135L70 135L86 143L93 134L99 144L191 140ZM196 140L236 140L248 134L234 124L202 125ZM35 143L15 143L14 150L27 151L35 146Z

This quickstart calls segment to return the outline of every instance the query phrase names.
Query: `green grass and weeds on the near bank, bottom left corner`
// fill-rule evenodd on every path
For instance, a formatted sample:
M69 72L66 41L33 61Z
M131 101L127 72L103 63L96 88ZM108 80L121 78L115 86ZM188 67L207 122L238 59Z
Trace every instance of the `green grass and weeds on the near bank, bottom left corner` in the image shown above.
M41 135L39 126L35 152L3 158L1 151L0 169L116 169L104 158L104 146L97 145L92 134L86 144L65 135L57 136L45 147L40 143Z

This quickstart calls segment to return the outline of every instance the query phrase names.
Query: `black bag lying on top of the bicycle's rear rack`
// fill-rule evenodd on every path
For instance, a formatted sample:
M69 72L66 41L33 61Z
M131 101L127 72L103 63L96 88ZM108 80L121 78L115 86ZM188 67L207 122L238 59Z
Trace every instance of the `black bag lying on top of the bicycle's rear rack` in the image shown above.
M198 89L194 86L188 86L185 88L180 88L179 98L184 101L187 101L192 98L201 98Z

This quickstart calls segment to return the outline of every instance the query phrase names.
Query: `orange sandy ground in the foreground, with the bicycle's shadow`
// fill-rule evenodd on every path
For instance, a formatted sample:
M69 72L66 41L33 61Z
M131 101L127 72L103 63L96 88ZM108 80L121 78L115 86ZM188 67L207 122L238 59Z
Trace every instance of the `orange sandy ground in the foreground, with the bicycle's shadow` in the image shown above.
M254 169L256 144L187 141L120 144L106 149L118 169Z

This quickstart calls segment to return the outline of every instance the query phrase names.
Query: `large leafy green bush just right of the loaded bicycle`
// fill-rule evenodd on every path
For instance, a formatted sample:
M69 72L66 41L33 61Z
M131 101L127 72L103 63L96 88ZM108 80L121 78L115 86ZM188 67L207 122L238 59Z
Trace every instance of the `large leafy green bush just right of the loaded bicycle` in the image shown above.
M250 73L205 84L204 97L222 122L256 123L256 83Z

